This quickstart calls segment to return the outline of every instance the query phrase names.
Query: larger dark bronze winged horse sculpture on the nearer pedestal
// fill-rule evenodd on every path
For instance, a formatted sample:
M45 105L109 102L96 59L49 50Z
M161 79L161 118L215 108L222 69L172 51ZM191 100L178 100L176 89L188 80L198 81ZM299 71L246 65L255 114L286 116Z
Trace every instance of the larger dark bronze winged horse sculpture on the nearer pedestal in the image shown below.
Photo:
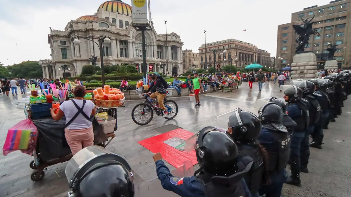
M303 26L299 26L299 25L293 25L292 27L295 30L295 33L297 33L299 35L299 38L296 39L296 43L298 43L299 45L296 47L296 53L303 53L305 51L305 48L309 45L309 40L310 40L310 36L311 35L316 35L319 33L317 32L317 30L313 30L312 25L314 22L311 22L312 19L314 18L314 16L308 20L305 19L302 20L302 22L304 22Z

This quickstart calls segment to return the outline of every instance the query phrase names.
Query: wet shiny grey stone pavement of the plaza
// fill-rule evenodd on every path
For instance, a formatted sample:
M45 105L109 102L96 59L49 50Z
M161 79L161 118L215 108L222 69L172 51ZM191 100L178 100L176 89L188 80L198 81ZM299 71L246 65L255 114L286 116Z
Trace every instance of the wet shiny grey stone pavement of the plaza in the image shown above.
M29 95L28 95L29 96ZM157 178L153 153L138 144L138 141L165 133L175 126L193 133L205 126L226 127L225 114L237 107L257 114L253 103L257 99L270 96L282 97L278 84L273 82L263 86L258 91L258 84L254 83L253 90L249 90L247 83L233 92L214 92L200 96L201 107L194 107L188 97L176 97L179 112L173 120L165 120L154 114L153 120L145 125L135 124L131 118L132 108L141 101L125 101L125 106L118 108L118 130L116 137L106 147L108 150L124 157L135 172L135 185L145 185ZM11 102L22 99L23 95L0 95L0 144L4 144L7 130L25 118L23 108L18 108ZM18 101L17 101L18 102ZM283 197L350 197L351 196L351 137L350 117L351 99L345 101L343 114L332 122L325 130L323 149L311 148L309 174L301 174L302 187L284 185ZM223 118L225 117L225 118ZM173 125L170 125L173 124ZM7 156L0 155L0 197L54 197L67 196L68 182L65 176L66 163L50 166L45 171L45 177L40 182L33 182L30 175L34 170L29 168L33 160L20 151ZM170 170L175 168L166 163ZM156 181L157 182L157 181ZM157 184L157 183L156 183ZM176 196L168 191L161 195L157 191L150 191L150 196ZM153 195L152 195L153 193ZM156 194L157 193L157 194ZM138 196L147 196L138 193Z

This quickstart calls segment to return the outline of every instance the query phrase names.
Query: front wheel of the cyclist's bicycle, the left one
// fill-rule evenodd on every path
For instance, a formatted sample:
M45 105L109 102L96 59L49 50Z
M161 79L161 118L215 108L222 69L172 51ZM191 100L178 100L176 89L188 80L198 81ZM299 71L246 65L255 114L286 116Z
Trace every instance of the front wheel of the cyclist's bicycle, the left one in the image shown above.
M132 110L132 119L136 124L146 125L151 122L153 117L152 108L146 104L144 108L144 103L137 104Z

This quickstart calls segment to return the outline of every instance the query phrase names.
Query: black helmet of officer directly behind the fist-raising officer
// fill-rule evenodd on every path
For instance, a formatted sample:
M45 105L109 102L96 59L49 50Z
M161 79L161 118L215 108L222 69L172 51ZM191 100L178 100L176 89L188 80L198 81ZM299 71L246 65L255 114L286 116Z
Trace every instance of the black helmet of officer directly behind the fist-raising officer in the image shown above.
M234 141L255 144L261 134L262 125L256 115L237 108L229 116L228 128L232 129L231 137Z

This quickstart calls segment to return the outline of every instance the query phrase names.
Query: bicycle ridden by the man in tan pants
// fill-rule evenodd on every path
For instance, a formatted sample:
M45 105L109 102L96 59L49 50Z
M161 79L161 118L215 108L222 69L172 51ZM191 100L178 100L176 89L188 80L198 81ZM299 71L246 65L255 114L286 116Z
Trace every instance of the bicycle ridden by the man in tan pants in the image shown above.
M155 104L158 104L157 100L151 99L150 96L147 94L143 94L143 96L145 101L143 103L137 104L132 109L132 119L136 124L139 124L139 125L146 125L150 123L153 118L154 111L158 116L163 115L163 110L155 106ZM165 117L167 120L171 120L177 116L178 105L175 101L166 100L164 101L164 105L167 108L167 112L168 112L168 114ZM138 115L136 115L135 112L137 112ZM140 117L140 119L145 121L143 122L141 122L140 120L137 121L136 118L138 117Z

